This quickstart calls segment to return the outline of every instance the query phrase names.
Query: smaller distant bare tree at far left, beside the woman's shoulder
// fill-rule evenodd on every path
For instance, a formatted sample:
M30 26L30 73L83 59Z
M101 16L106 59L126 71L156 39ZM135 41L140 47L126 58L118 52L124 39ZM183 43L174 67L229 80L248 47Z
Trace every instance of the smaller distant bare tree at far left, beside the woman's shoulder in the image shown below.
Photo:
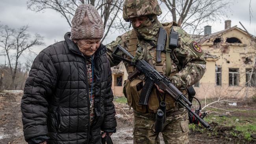
M42 40L43 37L39 34L35 34L32 39L31 34L28 33L28 26L22 26L18 30L9 28L8 26L1 27L0 48L2 48L7 55L9 69L11 71L10 89L14 88L20 56L25 51L31 52L33 46L43 45Z

